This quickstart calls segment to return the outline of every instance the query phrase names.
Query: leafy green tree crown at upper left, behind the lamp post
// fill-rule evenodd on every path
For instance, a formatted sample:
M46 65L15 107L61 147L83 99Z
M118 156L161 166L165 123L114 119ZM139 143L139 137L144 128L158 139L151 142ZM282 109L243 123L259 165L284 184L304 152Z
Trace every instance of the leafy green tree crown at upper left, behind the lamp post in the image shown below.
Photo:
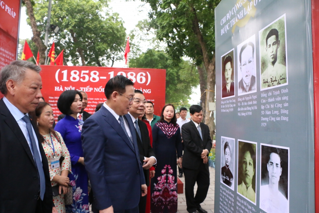
M34 0L37 26L44 40L48 2ZM107 0L53 0L51 24L61 28L50 31L56 55L64 49L67 61L74 65L106 66L123 58L126 33L117 13L108 11ZM50 44L51 45L51 44Z

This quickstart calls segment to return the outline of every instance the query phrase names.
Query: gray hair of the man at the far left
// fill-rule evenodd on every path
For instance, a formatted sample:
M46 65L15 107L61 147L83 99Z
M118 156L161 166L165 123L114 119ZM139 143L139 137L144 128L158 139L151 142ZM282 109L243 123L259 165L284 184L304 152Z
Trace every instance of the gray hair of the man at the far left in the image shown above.
M0 92L4 95L7 94L7 81L13 80L20 84L26 74L26 70L30 69L37 73L41 72L41 67L28 61L16 60L12 61L9 65L4 66L0 70Z

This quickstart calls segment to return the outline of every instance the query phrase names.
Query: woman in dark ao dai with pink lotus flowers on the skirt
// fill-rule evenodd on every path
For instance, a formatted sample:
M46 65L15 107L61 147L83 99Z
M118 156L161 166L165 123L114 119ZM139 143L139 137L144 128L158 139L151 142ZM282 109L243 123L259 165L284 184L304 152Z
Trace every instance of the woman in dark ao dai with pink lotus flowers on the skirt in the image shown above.
M157 164L151 182L151 212L177 212L177 164L182 166L181 130L176 124L175 108L166 104L161 119L152 128L153 150Z

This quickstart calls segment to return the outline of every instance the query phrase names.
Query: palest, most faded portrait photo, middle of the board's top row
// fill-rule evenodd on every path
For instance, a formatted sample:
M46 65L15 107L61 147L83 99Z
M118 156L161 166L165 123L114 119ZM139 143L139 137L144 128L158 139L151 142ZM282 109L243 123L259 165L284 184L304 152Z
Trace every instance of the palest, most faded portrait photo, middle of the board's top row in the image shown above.
M257 91L256 87L256 38L251 36L237 46L238 95Z

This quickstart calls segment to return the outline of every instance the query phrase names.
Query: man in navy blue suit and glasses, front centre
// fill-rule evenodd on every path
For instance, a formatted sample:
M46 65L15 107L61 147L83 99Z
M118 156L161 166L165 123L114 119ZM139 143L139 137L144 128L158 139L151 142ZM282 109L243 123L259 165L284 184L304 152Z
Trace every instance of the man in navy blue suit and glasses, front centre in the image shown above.
M138 213L147 194L135 127L126 115L134 83L122 75L105 85L107 101L82 126L84 163L100 213Z

